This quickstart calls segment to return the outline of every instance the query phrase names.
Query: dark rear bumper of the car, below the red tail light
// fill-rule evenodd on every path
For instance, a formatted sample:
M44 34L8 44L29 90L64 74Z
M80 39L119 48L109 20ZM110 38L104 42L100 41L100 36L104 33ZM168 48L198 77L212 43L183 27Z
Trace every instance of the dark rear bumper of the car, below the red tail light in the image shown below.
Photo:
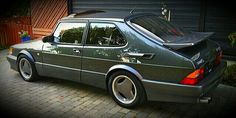
M150 101L197 103L222 80L226 62L223 62L196 86L142 80Z

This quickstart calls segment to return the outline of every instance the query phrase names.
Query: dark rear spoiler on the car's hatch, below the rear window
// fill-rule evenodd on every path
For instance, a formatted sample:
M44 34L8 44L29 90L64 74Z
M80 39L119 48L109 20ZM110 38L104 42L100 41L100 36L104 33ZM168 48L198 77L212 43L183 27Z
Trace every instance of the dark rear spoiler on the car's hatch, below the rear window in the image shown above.
M176 42L164 42L163 45L178 50L185 47L194 46L212 36L214 32L194 32L193 35L184 37Z

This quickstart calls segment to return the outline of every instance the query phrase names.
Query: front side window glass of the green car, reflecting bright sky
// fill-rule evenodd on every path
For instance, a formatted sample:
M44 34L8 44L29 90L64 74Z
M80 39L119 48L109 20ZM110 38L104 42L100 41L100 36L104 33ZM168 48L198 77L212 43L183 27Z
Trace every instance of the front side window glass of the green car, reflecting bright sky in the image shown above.
M86 23L60 23L54 32L54 41L80 44Z

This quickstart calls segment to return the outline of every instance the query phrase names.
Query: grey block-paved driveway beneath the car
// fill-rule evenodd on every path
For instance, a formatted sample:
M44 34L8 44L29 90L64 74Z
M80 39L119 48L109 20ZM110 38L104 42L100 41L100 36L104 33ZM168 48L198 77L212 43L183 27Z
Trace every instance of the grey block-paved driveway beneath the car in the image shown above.
M0 51L0 107L1 117L215 118L236 111L236 88L220 85L210 104L147 102L131 110L118 106L106 91L87 85L46 77L25 82L10 70L5 50Z

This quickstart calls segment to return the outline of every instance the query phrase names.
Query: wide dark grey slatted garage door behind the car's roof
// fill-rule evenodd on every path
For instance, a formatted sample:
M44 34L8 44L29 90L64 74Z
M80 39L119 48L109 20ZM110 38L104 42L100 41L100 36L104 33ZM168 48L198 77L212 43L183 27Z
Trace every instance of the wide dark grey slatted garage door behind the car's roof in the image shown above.
M72 12L83 10L153 12L161 14L163 0L72 0ZM198 31L201 2L199 0L164 0L171 10L171 22Z

